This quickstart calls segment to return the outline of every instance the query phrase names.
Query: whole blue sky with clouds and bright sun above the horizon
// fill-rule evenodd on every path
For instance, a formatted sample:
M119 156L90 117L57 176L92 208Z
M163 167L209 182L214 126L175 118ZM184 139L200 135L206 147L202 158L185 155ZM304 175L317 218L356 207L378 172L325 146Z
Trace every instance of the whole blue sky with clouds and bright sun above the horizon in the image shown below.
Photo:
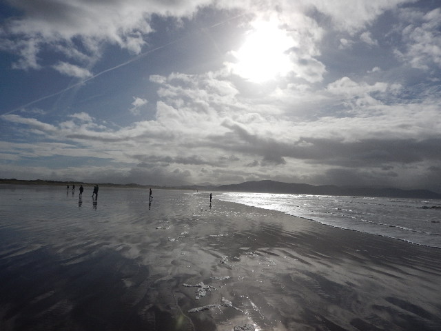
M441 3L2 0L0 178L441 192Z

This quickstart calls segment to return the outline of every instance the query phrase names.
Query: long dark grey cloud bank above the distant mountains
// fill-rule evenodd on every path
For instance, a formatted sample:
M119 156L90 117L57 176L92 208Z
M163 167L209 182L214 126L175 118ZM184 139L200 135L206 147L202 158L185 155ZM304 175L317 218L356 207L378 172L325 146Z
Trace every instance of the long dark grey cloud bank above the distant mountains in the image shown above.
M251 134L238 125L224 124L232 130L216 139L217 148L236 150L252 156L260 156L263 162L285 164L284 158L293 158L343 167L393 168L393 164L411 164L424 161L441 161L440 139L360 139L342 141L302 137L286 143L268 137Z

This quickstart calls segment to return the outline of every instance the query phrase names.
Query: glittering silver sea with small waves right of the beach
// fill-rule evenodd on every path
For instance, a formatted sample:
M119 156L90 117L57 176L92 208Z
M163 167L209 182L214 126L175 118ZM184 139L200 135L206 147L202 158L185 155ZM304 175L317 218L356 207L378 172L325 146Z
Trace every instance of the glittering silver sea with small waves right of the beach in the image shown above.
M216 199L441 248L441 200L223 192Z

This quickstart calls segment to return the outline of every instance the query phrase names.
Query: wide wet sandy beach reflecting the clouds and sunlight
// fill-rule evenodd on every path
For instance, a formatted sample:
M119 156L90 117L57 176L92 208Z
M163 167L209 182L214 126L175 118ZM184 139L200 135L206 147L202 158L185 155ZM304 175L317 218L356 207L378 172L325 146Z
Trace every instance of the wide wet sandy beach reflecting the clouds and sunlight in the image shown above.
M441 330L440 249L209 193L1 185L0 330Z

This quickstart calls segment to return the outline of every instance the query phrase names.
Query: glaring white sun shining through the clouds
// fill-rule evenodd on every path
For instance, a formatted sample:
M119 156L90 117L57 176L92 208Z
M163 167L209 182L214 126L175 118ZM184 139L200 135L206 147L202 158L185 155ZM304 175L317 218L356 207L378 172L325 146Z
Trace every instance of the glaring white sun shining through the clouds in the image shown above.
M253 26L245 43L232 52L237 59L232 63L233 72L256 83L285 76L292 68L287 50L293 46L293 39L278 28L276 21L260 21Z

